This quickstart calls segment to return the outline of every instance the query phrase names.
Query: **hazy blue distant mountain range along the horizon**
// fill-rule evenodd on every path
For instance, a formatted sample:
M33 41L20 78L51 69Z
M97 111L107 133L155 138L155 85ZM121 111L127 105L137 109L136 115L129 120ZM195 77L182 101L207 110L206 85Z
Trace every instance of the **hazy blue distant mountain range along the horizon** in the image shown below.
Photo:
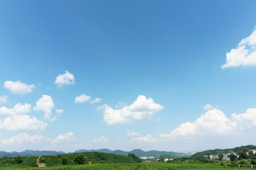
M75 152L69 152L69 153L65 153L65 152L57 152L57 151L33 151L33 150L26 150L23 152L5 152L5 151L0 151L0 157L3 156L43 156L43 155L59 155L59 154L71 154L71 153L79 153L79 152L105 152L105 153L109 153L109 154L117 154L117 155L125 155L127 156L128 153L131 154L135 154L137 156L159 156L159 155L176 155L176 156L185 156L186 154L183 153L178 153L178 152L167 152L167 151L142 151L142 150L132 150L129 152L126 151L122 151L122 150L109 150L106 148L102 148L99 150L77 150Z

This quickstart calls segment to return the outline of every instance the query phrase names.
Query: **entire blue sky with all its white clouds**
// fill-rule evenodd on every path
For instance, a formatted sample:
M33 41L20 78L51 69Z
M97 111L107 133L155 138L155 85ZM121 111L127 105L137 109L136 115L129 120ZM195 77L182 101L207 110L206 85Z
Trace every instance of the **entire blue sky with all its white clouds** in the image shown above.
M1 1L0 150L255 145L255 6Z

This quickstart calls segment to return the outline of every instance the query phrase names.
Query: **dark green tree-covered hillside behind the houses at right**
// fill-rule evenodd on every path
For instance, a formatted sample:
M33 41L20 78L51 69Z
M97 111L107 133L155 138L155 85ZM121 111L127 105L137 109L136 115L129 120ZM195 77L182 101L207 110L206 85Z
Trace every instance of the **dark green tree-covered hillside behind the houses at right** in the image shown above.
M228 154L232 152L239 152L242 150L251 150L251 149L256 149L255 145L246 145L246 146L240 146L240 147L235 147L235 148L227 148L225 150L222 149L215 149L215 150L207 150L207 151L202 151L202 152L196 152L195 154L192 155L193 158L196 158L198 156L204 156L205 154Z

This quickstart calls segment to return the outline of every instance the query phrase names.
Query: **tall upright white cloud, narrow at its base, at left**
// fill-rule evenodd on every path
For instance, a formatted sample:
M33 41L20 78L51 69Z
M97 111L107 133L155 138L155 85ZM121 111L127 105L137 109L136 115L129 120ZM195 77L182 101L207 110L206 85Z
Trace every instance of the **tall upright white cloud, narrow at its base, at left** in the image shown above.
M42 98L36 101L36 106L34 107L34 111L42 111L44 112L44 118L49 121L56 120L56 117L52 117L52 109L54 107L53 100L51 96L42 95ZM51 118L52 117L52 118Z

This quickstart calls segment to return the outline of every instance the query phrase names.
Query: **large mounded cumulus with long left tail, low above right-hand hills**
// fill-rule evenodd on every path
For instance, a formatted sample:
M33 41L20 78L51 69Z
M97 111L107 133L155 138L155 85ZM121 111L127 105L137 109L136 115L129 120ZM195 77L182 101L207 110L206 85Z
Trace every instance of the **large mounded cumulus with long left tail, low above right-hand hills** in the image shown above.
M170 134L159 134L160 137L175 138L178 136L192 135L230 135L235 133L237 123L226 118L226 115L218 109L212 109L193 123L186 122L179 128L172 130Z

